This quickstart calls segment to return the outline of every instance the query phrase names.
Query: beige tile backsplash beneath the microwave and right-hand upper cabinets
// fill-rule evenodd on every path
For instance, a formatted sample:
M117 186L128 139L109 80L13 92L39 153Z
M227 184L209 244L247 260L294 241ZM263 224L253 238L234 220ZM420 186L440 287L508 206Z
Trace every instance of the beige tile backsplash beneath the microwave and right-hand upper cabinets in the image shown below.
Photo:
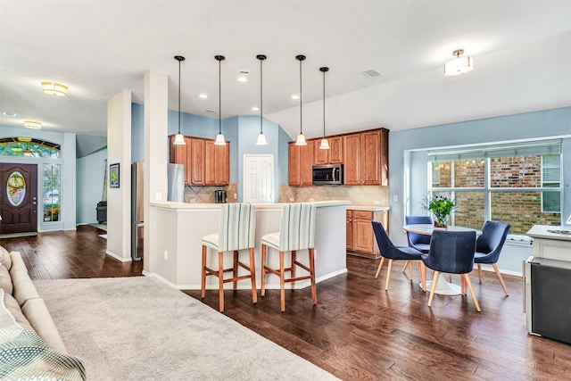
M311 200L313 199L313 200ZM388 186L279 186L280 203L349 200L353 205L389 206Z

